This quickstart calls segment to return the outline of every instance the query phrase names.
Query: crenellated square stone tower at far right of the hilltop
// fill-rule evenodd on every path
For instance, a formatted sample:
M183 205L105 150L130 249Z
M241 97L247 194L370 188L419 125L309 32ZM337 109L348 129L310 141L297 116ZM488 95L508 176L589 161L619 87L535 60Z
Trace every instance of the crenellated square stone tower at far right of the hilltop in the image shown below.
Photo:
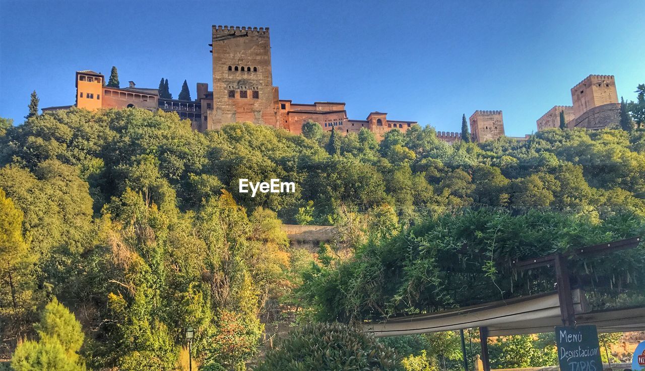
M571 100L575 117L597 106L618 103L616 82L612 75L589 75L571 89Z

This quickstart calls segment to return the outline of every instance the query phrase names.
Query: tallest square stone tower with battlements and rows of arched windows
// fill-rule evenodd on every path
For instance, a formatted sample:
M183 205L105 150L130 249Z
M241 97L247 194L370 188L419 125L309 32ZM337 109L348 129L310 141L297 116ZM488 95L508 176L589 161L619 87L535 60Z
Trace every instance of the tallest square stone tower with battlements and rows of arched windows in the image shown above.
M213 26L213 107L208 129L250 121L277 127L269 28Z

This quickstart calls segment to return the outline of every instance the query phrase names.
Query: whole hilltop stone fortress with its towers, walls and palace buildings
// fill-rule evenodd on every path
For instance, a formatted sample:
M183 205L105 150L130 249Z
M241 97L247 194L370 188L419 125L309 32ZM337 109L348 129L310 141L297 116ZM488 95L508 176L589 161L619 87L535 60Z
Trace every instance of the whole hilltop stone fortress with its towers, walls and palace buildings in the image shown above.
M250 121L257 125L283 128L300 134L303 123L315 121L324 130L342 134L357 133L361 128L377 138L389 130L405 132L417 121L390 119L385 112L370 112L365 119L347 117L345 103L293 103L281 99L273 86L269 28L213 26L213 90L208 83L197 83L197 99L183 101L159 97L156 88L139 88L133 81L126 88L104 86L104 75L91 70L76 72L78 108L143 108L150 111L177 112L189 119L199 131L221 128L227 123ZM538 130L560 126L564 112L567 126L593 130L619 122L620 103L614 77L590 75L571 89L573 106L554 106L537 120ZM68 109L71 106L43 108L43 112ZM504 136L501 110L477 110L470 116L473 141L484 142ZM461 140L460 132L437 132L442 141ZM526 135L528 137L528 135ZM526 137L516 139L525 140Z

